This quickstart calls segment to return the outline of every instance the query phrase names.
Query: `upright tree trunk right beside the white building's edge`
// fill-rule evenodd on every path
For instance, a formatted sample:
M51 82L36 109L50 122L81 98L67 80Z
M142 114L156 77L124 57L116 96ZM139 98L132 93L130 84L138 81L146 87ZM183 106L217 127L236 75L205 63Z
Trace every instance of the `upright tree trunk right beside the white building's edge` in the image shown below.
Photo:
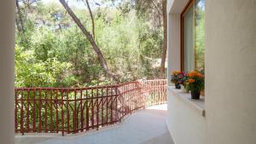
M166 78L166 52L167 52L167 9L166 0L163 0L163 23L164 23L164 48L161 58L160 74L161 78Z

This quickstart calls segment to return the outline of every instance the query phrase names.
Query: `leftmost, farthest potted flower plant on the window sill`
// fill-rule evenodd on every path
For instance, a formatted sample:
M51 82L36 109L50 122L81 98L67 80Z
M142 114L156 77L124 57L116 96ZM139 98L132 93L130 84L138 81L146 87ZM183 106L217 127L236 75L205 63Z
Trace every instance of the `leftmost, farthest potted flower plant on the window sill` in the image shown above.
M180 71L173 71L172 72L172 78L171 78L171 82L173 84L175 84L175 88L176 89L181 89L180 84L184 83L184 77L186 76L186 74L184 72L180 72Z

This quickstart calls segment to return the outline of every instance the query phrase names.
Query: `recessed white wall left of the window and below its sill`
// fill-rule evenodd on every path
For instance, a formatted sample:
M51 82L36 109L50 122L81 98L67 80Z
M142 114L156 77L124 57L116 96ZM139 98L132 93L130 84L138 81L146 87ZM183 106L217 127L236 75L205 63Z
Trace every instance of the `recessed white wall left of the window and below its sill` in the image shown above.
M189 0L168 1L168 85L171 85L171 72L181 67L180 14ZM167 90L167 127L176 144L205 144L205 118L195 109Z

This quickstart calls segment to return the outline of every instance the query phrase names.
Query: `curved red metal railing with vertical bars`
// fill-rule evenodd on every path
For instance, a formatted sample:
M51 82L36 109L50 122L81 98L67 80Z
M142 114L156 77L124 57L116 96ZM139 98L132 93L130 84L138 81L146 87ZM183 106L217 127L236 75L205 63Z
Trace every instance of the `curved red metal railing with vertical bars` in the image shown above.
M90 88L15 89L15 132L71 134L98 130L166 102L166 79Z

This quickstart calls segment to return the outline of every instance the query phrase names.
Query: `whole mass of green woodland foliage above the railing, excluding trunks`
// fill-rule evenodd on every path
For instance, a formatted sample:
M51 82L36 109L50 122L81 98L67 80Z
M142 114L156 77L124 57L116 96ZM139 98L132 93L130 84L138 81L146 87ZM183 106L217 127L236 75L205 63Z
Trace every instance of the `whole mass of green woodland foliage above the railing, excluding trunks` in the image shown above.
M103 2L102 2L103 3ZM127 5L128 4L128 5ZM96 43L120 82L155 78L163 30L137 16L133 6L94 8ZM74 12L91 30L88 11ZM16 87L79 87L110 84L89 41L56 3L27 8L25 32L17 32Z

